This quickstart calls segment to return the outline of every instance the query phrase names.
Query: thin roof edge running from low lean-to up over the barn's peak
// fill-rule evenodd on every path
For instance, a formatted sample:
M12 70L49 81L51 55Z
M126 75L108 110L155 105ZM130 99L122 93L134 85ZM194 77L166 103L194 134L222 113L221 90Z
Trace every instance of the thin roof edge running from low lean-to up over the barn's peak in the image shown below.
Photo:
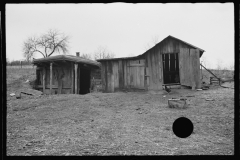
M157 43L155 46L161 44L164 40L166 40L166 39L168 39L168 38L172 38L172 39L181 41L182 43L185 43L185 44L188 45L188 46L191 46L191 47L193 47L193 48L195 48L195 49L199 49L202 53L205 52L203 49L201 49L201 48L199 48L199 47L196 47L196 46L194 46L194 45L192 45L192 44L190 44L190 43L187 43L187 42L185 42L185 41L183 41L183 40L181 40L181 39L178 39L178 38L176 38L176 37L173 37L173 36L171 36L171 35L169 35L169 36L167 36L166 38L164 38L162 41L160 41L159 43ZM154 48L155 46L153 46L152 48ZM150 48L150 49L152 49L152 48ZM121 57L121 58L97 59L97 61L100 62L100 61L107 61L107 60L136 59L136 58L141 57L141 56L144 55L145 53L147 53L150 49L148 49L148 50L147 50L146 52L144 52L143 54L140 54L140 55L135 56L135 57ZM202 56L202 53L200 54L200 57Z

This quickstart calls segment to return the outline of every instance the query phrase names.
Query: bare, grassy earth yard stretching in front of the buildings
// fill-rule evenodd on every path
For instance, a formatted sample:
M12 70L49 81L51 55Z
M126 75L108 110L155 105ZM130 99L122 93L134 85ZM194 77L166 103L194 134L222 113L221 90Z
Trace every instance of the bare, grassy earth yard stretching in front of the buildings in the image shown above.
M234 153L233 89L9 96L30 87L23 82L34 74L33 69L7 70L7 155ZM233 82L225 86L234 87ZM168 108L172 97L187 98L188 108ZM185 139L172 131L174 120L182 116L194 124Z

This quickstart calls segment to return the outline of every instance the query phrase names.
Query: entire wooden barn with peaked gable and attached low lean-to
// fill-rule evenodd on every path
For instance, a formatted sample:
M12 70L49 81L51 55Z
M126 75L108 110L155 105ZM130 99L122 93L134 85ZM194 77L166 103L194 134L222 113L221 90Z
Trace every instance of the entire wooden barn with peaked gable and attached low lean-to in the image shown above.
M203 52L168 36L139 56L99 59L103 92L162 90L164 85L201 88L200 57Z

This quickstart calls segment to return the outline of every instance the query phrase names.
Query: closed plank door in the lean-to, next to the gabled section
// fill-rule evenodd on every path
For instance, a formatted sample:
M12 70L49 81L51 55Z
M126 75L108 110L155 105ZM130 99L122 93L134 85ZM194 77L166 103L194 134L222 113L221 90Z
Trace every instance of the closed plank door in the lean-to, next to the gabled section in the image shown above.
M145 89L144 69L145 60L131 60L129 63L130 88Z

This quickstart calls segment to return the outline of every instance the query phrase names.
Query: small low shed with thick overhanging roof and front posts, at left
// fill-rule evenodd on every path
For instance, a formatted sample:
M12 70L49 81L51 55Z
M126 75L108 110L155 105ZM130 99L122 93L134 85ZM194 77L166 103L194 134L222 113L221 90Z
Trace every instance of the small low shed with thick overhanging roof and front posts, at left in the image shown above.
M100 63L73 55L34 59L35 87L43 94L86 94L101 81Z

